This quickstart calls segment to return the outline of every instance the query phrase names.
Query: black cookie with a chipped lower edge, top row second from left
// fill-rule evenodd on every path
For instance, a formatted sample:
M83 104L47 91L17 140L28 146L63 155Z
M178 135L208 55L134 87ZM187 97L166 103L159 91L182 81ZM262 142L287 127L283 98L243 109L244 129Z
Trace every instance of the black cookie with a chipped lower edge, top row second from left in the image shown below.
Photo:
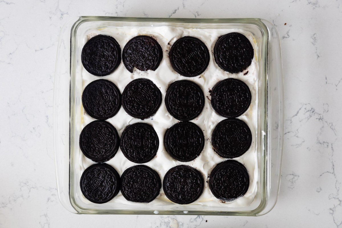
M131 73L134 67L141 71L156 70L162 57L161 46L150 36L132 38L122 51L122 62Z

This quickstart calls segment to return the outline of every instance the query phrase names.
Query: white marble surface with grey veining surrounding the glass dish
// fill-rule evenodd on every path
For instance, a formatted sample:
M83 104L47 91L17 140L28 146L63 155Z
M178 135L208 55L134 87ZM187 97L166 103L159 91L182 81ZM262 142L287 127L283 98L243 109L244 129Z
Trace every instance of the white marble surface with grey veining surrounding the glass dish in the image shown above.
M0 0L0 227L342 227L342 1ZM76 215L57 197L52 145L61 26L79 15L261 17L281 37L279 200L261 217ZM286 24L285 24L286 23Z

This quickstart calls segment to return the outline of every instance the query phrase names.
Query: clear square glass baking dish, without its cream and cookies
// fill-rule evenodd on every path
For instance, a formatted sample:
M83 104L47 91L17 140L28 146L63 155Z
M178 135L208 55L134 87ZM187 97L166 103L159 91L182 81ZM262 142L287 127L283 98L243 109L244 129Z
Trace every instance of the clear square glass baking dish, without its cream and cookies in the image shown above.
M248 206L179 204L93 204L79 191L81 172L78 137L83 121L80 50L90 31L111 27L172 26L184 29L241 29L255 40L258 58L256 193ZM95 77L95 76L94 76ZM100 78L100 77L99 77ZM122 92L122 91L121 91ZM255 107L254 107L255 108ZM58 43L54 84L54 150L57 190L63 206L78 214L189 214L259 216L274 207L280 184L284 129L283 82L279 35L276 28L260 18L190 19L81 16L67 22ZM162 142L162 141L161 141ZM120 174L120 173L119 173ZM119 193L120 194L120 193Z

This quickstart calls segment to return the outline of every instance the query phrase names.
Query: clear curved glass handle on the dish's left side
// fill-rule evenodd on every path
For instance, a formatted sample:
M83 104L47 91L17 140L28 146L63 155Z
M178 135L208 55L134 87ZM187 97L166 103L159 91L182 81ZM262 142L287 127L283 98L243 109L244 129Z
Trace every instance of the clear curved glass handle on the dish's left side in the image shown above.
M69 131L70 131L70 31L79 17L68 21L58 40L54 93L53 134L58 198L70 212L77 213L69 198Z

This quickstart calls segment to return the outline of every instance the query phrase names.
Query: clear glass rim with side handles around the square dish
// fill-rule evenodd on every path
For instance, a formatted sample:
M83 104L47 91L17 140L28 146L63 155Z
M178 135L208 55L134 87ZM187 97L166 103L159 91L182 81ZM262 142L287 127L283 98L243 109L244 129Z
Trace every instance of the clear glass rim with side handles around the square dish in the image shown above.
M76 19L76 22L75 22ZM282 157L282 135L283 135L283 107L282 107L282 69L281 69L281 56L280 56L280 44L279 44L279 36L274 37L274 31L276 35L278 35L276 29L274 26L260 18L219 18L219 19L194 19L194 18L136 18L136 17L97 17L97 16L82 16L82 17L77 17L74 19L71 19L65 26L64 29L66 32L68 32L69 37L70 37L70 43L71 42L71 37L73 36L73 32L77 30L77 26L80 25L81 23L88 22L88 21L116 21L116 22L165 22L165 23L190 23L190 24L252 24L252 25L257 25L261 31L263 32L263 47L265 47L265 50L262 50L262 52L265 52L265 60L263 61L263 64L265 64L264 69L265 69L265 119L262 125L264 126L265 130L265 135L264 138L262 139L263 142L265 142L265 147L264 147L264 167L262 169L263 172L263 185L264 188L263 190L265 191L262 193L262 200L261 204L257 209L253 211L189 211L188 214L194 214L194 215L247 215L247 216L257 216L257 215L262 215L270 211L273 206L275 205L277 195L278 195L278 190L279 190L279 183L280 183L280 170L281 170L281 157ZM71 30L69 30L71 28ZM272 30L273 33L272 33ZM58 45L58 50L62 49L61 48L61 38L62 38L62 32L63 28L61 31L61 36L60 36L60 43ZM278 43L276 42L278 40ZM273 42L273 46L272 46ZM70 45L70 51L72 50L72 44ZM275 48L276 50L279 49L278 52L272 53L271 51L271 46ZM279 47L279 48L278 48ZM65 48L65 43L64 43L64 48ZM270 56L271 54L271 56ZM71 55L71 52L70 52ZM276 55L276 56L274 56ZM278 61L276 63L271 63L270 58L271 57L277 57ZM75 205L73 204L73 200L67 197L66 195L66 186L65 183L63 183L63 180L65 180L65 172L63 173L61 169L65 166L65 164L62 164L63 161L66 160L66 156L64 154L61 155L61 138L58 138L61 133L65 133L65 129L61 130L60 123L61 123L61 111L63 111L63 108L61 108L61 75L62 73L60 72L60 67L61 65L58 61L58 58L61 58L61 53L60 51L57 52L57 60L56 60L56 73L55 73L55 89L54 89L54 149L55 149L55 162L56 162L56 177L57 177L57 188L58 188L58 196L60 197L60 200L62 204L67 208L67 210L74 212L74 213L79 213L79 214L154 214L153 210L122 210L122 211L87 211L87 210L82 210L81 208L75 208ZM66 58L67 60L67 58ZM69 56L69 61L70 61L70 56ZM59 64L59 65L58 65ZM66 61L67 64L67 61ZM280 69L280 71L279 71ZM69 66L70 70L70 66ZM66 72L68 74L68 72ZM272 75L273 74L273 75ZM69 71L69 78L70 78L71 72ZM278 86L278 91L276 96L274 95L274 90L270 90L270 86L272 86L272 78L276 78L277 80L274 80L277 86ZM65 84L65 79L64 84ZM70 82L70 80L69 80ZM71 93L71 83L69 83L70 86L68 88L69 93ZM65 92L65 91L64 91ZM275 108L276 105L272 106L272 98L277 97L277 101L280 104L278 107ZM65 101L65 100L64 100ZM273 99L274 101L274 99ZM71 94L69 94L69 104L71 103ZM272 118L272 110L275 110L275 112L278 111L278 116L275 116ZM65 111L65 108L64 108ZM71 104L69 107L69 121L71 124ZM65 117L65 115L64 115ZM62 118L63 119L63 118ZM273 122L272 122L273 121ZM277 122L278 128L277 131L270 131L269 129L274 129L272 126L275 125L274 122ZM72 126L70 125L69 128L69 133L71 131ZM64 130L64 131L63 131ZM64 135L65 137L65 135ZM271 139L277 138L277 147L273 147L275 143L272 143ZM66 138L64 138L65 140ZM274 141L274 140L273 140ZM272 144L272 145L271 145ZM69 145L70 145L70 136L69 136ZM272 148L274 148L272 150ZM65 149L65 148L64 148ZM70 149L70 148L69 148ZM69 150L70 153L70 150ZM273 155L273 156L271 156ZM70 157L69 157L70 158ZM272 159L274 158L274 159ZM276 174L278 174L275 178L275 182L271 182L271 167L274 166L274 162L276 163ZM65 162L64 162L65 163ZM70 164L70 160L69 160ZM271 165L272 164L272 165ZM65 168L65 167L64 167ZM64 170L65 171L65 170ZM70 166L69 166L69 176L67 177L70 180ZM274 178L273 178L274 179ZM271 185L273 184L273 185ZM63 186L64 185L64 186ZM70 184L69 184L69 191L70 191ZM275 189L275 190L274 190ZM271 191L273 190L273 191ZM274 193L274 191L276 193ZM272 202L271 202L271 201ZM159 214L184 214L183 210L179 211L160 211Z

